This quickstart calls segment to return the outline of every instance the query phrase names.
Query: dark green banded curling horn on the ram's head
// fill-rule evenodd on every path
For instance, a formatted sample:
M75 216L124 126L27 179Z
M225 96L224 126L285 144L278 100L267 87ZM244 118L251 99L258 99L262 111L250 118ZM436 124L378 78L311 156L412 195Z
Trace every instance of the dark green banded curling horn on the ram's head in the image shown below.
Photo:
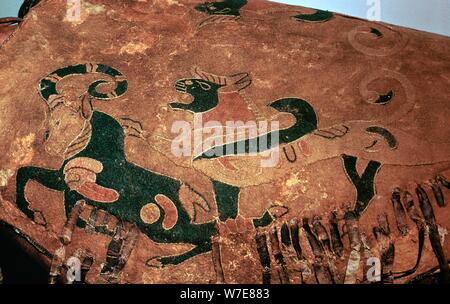
M66 66L50 73L39 82L39 93L48 104L48 106L50 108L53 108L63 98L57 90L57 83L61 79L68 76L84 75L90 73L107 75L111 77L112 81L115 83L115 88L107 93L101 93L97 91L97 87L102 83L111 82L111 79L101 79L91 83L87 92L91 97L95 99L109 100L120 97L127 91L128 81L125 79L125 76L123 76L119 71L104 64L85 63Z

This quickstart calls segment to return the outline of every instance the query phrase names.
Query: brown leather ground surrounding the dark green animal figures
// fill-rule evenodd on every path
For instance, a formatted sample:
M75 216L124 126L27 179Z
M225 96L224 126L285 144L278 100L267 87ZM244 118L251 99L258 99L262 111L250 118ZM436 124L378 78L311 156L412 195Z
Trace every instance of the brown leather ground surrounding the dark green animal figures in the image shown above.
M46 226L39 225L42 217L36 216L35 223L16 207L16 173L26 166L61 168L64 157L51 156L46 151L44 138L52 113L39 95L37 85L61 67L90 62L113 67L128 81L128 90L123 96L108 101L92 100L92 110L116 120L126 116L142 125L139 136L125 137L126 160L189 185L179 195L184 210L191 216L191 225L214 220L224 225L218 228L217 234L211 235L216 244L213 254L220 251L221 265L217 265L217 258L213 259L211 251L207 251L181 264L161 267L158 263L152 264L153 257L182 254L190 250L192 244L157 242L152 240L151 234L141 230L131 242L132 224L136 223L124 223L124 235L129 237L133 248L123 269L118 271L118 282L261 283L263 268L255 241L257 233L267 236L271 282L286 283L283 267L277 263L278 251L287 264L288 281L300 282L301 263L291 258L295 255L292 250L283 246L277 250L277 241L271 233L274 227L279 231L283 223L290 223L292 219L297 219L302 226L303 218L311 223L314 216L319 216L329 234L328 219L332 211L337 211L341 234L351 226L347 224L343 229L343 204L349 203L352 209L357 193L346 174L343 154L357 159L359 175L370 162L380 164L374 181L375 195L359 217L359 231L367 238L373 256L381 258L386 247L386 242L380 240L382 237L377 239L373 233L373 228L379 226L379 216L386 213L390 226L387 242L395 245L393 271L401 272L414 266L418 230L409 217L406 218L408 232L403 235L397 229L391 197L396 187L411 192L422 216L416 196L417 184L421 184L434 209L436 226L433 227L438 230L444 253L449 257L450 244L446 235L450 207L436 204L429 183L438 175L450 179L449 38L339 14L326 22L299 21L293 16L315 10L264 0L249 0L240 9L239 18L211 18L195 9L202 2L194 0L90 0L84 3L79 22L70 22L65 17L63 1L42 1L0 49L1 221L19 228L55 256L61 248L59 236L67 221L63 193L36 181L27 184L25 196L30 208L39 211L46 220ZM1 28L0 35L3 35ZM176 90L175 83L184 78L198 79L196 67L214 75L248 73L251 77L248 87L229 85L221 89L219 102L224 104L208 111L204 119L220 122L277 120L280 128L288 128L295 121L293 116L277 112L268 105L281 98L296 97L313 107L318 118L316 130L283 144L280 162L275 167L261 167L260 156L237 155L196 161L193 156L175 156L171 143L177 134L171 132L172 125L176 121L193 124L194 115L174 110L169 103L190 102L187 95ZM78 111L81 107L78 97L98 79L94 74L71 76L58 86ZM386 104L377 103L377 98L389 91L394 92L393 97L388 98ZM72 129L61 136L75 130L76 123L70 126ZM374 126L393 134L396 144L390 145L380 133L368 131ZM336 136L342 133L345 134ZM330 134L332 138L327 138ZM56 141L61 143L64 139ZM91 168L89 172L96 166L89 160L83 164ZM90 182L95 182L90 180L92 175L86 176ZM239 188L240 216L228 220L227 224L218 219L220 212L212 180ZM133 185L134 181L127 182ZM82 191L79 185L71 187ZM94 186L89 191L103 191L102 197L109 198L104 199L104 203L114 204L119 194L108 192L115 189L102 187ZM442 184L440 188L444 199L450 196L450 190ZM89 198L88 192L83 193ZM197 194L207 202L206 207L198 203ZM171 198L160 197L160 200L164 214L173 217L164 226L170 231L181 215L170 209L176 204ZM288 212L272 214L274 221L269 227L256 229L251 221L248 224L249 219L260 218L267 210L277 207ZM89 218L90 207L86 208L81 218ZM141 212L142 221L150 222L157 216L152 210L148 207ZM192 226L186 229L189 227ZM314 229L313 233L320 239L320 233ZM78 249L84 256L88 252L93 256L93 265L86 281L105 283L108 279L100 272L107 261L111 239L111 236L76 227L69 244L63 245L63 258L67 259ZM354 249L348 233L342 240L342 258L332 252L322 257L333 261L335 281L339 283L344 282L349 256ZM306 268L314 272L314 265L328 267L325 262L317 262L304 229L300 230L300 245L307 260ZM365 281L365 258L361 249L354 283ZM405 282L437 265L427 235L417 271L395 282ZM222 279L217 277L220 266L224 272ZM305 271L304 282L317 282L316 277L322 274L319 268L316 276Z

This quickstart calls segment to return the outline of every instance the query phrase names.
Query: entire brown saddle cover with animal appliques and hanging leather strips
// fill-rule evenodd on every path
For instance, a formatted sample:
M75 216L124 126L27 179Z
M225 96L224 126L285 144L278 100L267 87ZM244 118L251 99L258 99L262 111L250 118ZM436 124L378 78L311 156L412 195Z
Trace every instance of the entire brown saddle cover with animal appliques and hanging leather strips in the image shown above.
M51 282L73 261L87 283L448 280L449 38L264 0L69 2L0 49L0 226Z

